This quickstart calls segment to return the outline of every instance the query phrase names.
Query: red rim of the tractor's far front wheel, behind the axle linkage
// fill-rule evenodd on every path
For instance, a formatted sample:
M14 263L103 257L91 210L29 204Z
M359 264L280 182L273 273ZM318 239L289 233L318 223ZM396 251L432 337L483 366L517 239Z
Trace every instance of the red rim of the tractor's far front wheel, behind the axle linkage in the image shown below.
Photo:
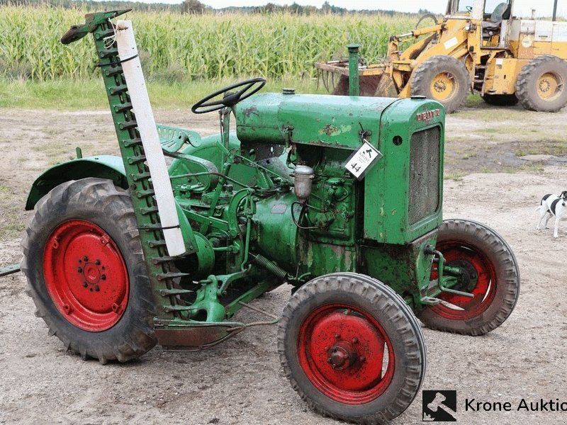
M474 288L463 289L472 293L474 298L442 293L438 297L456 307L437 304L432 305L431 310L441 317L452 320L472 319L485 312L494 300L498 285L492 261L476 246L456 239L439 242L437 249L442 252L447 264L459 261L473 267L478 280ZM432 272L432 278L437 278L437 269Z

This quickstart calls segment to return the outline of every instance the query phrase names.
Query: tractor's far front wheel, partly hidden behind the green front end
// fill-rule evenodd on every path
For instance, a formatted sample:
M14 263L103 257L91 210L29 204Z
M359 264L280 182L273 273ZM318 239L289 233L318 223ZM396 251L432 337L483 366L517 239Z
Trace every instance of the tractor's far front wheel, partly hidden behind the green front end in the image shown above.
M476 293L476 297L439 295L453 307L425 307L418 314L421 321L431 329L472 336L503 324L520 295L520 268L500 234L479 222L445 220L437 234L437 249L450 266L464 271L454 289Z

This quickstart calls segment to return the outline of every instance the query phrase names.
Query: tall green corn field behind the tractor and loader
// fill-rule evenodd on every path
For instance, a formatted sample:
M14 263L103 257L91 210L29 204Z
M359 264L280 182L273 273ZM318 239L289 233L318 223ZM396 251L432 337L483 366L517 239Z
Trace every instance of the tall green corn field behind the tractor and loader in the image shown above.
M0 7L0 77L87 78L96 75L94 44L60 43L70 26L84 23L86 11L43 6ZM311 77L313 62L345 55L360 42L362 55L376 62L388 38L407 32L410 16L181 15L127 13L134 23L145 73L165 79L222 79L260 75Z

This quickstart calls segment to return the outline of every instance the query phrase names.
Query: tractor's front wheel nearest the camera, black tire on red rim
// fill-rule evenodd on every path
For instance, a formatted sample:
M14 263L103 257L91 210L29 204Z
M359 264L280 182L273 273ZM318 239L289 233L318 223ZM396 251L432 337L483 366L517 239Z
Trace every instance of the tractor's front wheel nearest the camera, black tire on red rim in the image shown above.
M335 320L332 317L340 317L344 326L335 328L338 322L329 322ZM363 323L373 329L366 336L358 329ZM313 331L315 327L318 331ZM352 338L349 332L360 334L360 337ZM380 340L382 335L386 337ZM327 337L334 341L331 346L325 346ZM305 338L309 344L302 346L307 341ZM364 351L364 347L374 344L374 339L383 351L388 352L387 364L384 363L386 356L379 356L379 350ZM346 367L335 364L336 358L331 361L336 355L333 349L349 341L352 341L351 348L354 347L356 356L347 358L357 360L354 363L347 360ZM319 349L311 350L313 344L318 343L321 343ZM420 389L427 360L420 324L408 305L391 288L357 273L320 276L299 288L283 310L278 351L291 386L311 409L359 424L381 424L402 414ZM308 361L308 358L312 360ZM363 369L366 360L372 365L369 366L371 369ZM312 367L314 362L320 364ZM376 364L383 367L377 369ZM335 373L332 370L337 375L330 379L339 380L338 384L325 378ZM378 382L366 385L365 380L371 379L366 377L366 372L383 376L378 377ZM364 386L359 389L349 385ZM382 392L378 394L379 391ZM346 399L350 402L345 402Z

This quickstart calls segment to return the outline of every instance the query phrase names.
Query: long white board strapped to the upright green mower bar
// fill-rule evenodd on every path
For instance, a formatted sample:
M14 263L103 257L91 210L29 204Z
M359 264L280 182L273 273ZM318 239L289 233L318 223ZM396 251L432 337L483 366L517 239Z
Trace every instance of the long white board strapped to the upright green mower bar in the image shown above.
M150 97L147 95L142 65L137 56L132 21L118 21L116 23L116 42L118 44L118 56L122 62L124 77L128 86L128 94L130 94L132 108L136 115L138 130L147 157L147 166L152 176L159 220L162 222L167 251L170 256L178 256L186 251L185 243L179 227L172 183L169 181L162 146L159 144L159 135L150 105Z

